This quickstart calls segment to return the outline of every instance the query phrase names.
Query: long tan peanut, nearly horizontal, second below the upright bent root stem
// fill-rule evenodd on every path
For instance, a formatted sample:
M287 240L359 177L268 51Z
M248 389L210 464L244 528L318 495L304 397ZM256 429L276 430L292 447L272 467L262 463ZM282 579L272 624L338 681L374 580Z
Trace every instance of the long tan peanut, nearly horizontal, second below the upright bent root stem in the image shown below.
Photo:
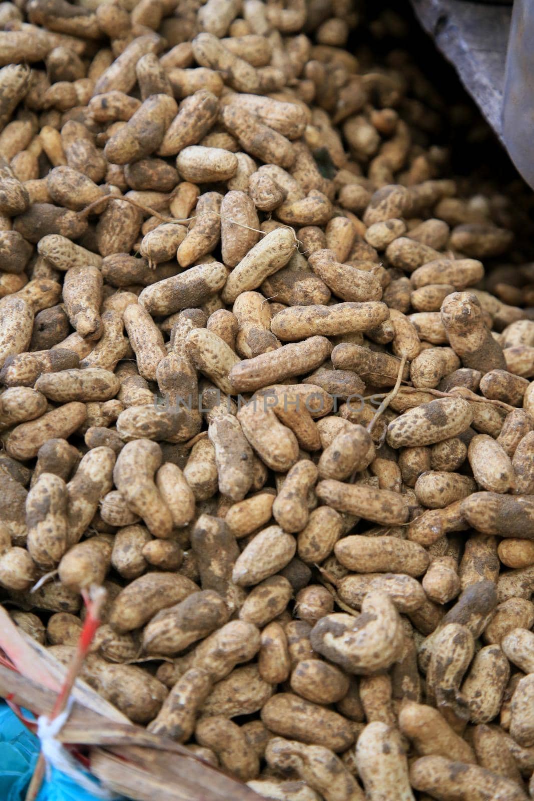
M326 479L316 487L317 497L338 512L349 512L381 525L408 521L408 503L403 495L365 485L348 485Z

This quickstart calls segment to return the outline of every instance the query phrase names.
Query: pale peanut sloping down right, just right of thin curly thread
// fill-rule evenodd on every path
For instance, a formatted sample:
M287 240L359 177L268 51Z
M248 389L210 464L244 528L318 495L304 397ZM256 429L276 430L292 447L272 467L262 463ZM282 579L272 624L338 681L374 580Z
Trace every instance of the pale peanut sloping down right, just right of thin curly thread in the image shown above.
M372 272L350 264L339 264L335 260L334 251L316 251L311 254L308 263L315 275L342 300L357 302L380 300L382 297L382 286Z

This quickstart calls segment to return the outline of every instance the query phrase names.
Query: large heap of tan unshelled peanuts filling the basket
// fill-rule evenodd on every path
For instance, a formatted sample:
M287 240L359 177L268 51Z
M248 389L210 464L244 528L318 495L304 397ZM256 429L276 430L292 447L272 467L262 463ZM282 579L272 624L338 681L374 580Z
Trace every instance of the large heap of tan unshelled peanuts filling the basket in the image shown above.
M0 3L2 602L267 799L534 772L528 223L403 26Z

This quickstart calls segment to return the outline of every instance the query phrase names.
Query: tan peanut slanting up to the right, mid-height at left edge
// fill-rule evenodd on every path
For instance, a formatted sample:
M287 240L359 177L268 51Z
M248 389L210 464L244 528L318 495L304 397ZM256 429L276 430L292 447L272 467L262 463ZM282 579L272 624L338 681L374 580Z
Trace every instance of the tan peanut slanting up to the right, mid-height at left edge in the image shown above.
M6 439L6 452L14 459L33 459L50 437L70 437L85 419L85 404L73 402L59 406L12 429Z

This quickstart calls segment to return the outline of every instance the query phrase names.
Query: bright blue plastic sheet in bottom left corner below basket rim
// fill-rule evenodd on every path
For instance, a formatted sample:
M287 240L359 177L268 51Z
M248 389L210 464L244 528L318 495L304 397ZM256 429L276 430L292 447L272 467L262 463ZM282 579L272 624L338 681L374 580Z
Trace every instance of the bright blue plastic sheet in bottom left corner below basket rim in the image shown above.
M25 713L26 714L26 713ZM31 717L28 713L26 717ZM39 752L31 734L5 703L0 703L0 799L24 801ZM37 801L101 801L54 768L42 783ZM124 799L126 801L126 799Z

